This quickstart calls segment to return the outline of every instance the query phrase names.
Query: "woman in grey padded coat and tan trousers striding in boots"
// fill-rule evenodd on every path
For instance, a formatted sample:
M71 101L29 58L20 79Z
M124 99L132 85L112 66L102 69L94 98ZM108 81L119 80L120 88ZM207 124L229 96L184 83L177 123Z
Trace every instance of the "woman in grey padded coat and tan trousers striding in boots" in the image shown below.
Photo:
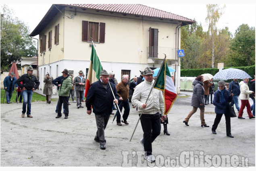
M187 117L184 119L183 123L185 123L186 126L189 126L187 123L189 121L189 118L196 113L198 107L200 109L200 119L201 119L201 126L202 127L209 127L206 125L204 120L204 76L198 76L196 77L196 80L192 83L194 85L193 87L193 95L191 100L191 106L193 106L193 109L189 112Z

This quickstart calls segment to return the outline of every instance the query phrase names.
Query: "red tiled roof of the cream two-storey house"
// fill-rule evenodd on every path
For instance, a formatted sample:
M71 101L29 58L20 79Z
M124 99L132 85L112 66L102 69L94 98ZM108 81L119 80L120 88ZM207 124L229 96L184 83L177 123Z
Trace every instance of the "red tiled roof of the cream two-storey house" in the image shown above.
M182 26L196 23L196 21L188 19L186 17L179 16L163 10L158 10L156 8L152 8L142 4L53 4L44 16L44 18L42 19L42 21L37 25L37 27L32 31L32 33L29 36L38 35L46 27L46 25L50 23L50 21L59 12L59 10L67 6L79 7L82 9L108 11L121 14L132 14L135 16L148 16L158 18L160 20L167 19L169 21L182 22Z

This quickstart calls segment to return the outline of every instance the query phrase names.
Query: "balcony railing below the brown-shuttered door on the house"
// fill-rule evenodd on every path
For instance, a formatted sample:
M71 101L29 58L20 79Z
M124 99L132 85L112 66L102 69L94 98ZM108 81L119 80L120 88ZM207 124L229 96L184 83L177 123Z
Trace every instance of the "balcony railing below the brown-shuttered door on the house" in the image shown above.
M158 47L150 46L147 47L147 57L153 59L164 59L164 54L166 54L167 60L176 60L177 49L173 47Z

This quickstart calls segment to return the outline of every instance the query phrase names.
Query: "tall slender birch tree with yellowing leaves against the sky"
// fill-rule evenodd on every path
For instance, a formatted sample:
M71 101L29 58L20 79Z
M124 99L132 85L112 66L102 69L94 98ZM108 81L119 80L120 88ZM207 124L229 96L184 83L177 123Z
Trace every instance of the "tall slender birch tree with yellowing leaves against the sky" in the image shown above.
M214 68L214 60L218 55L214 55L214 40L217 38L218 30L216 24L218 23L219 19L221 18L223 9L226 7L225 5L221 8L219 4L207 4L207 16L206 16L206 23L209 24L208 26L208 33L209 38L211 40L211 54L212 54L212 68Z

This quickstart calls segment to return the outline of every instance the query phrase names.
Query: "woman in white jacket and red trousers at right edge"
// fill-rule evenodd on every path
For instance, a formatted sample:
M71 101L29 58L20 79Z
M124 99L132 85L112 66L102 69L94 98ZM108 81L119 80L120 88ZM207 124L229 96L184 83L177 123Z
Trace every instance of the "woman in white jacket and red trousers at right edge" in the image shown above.
M238 114L238 118L239 119L245 119L243 116L243 113L244 113L244 108L246 107L247 108L247 113L249 115L249 118L252 119L252 118L255 118L253 115L252 115L252 112L251 112L251 106L250 106L250 103L249 103L249 95L254 93L253 91L250 91L249 90L249 87L248 87L248 82L249 82L249 78L244 78L240 83L240 100L241 100L241 107L240 107L240 110L239 110L239 114Z

